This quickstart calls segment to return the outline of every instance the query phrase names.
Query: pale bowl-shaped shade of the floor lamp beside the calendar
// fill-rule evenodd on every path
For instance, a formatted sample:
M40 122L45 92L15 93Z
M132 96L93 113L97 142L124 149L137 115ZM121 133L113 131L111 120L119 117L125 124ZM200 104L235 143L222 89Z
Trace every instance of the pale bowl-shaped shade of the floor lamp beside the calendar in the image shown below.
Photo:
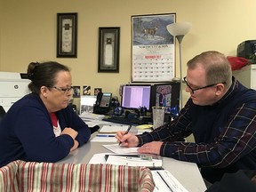
M192 24L189 22L178 22L167 25L166 28L172 36L185 36Z

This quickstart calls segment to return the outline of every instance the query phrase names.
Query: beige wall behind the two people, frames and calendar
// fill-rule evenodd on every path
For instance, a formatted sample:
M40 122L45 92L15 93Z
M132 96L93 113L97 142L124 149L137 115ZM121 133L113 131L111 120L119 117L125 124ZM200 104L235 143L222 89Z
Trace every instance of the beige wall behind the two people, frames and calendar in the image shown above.
M74 85L117 95L119 84L131 81L132 15L176 12L177 22L193 24L182 42L185 76L186 62L197 53L235 56L237 44L255 39L255 7L255 0L0 0L0 70L24 72L30 61L56 60L71 68ZM78 12L76 59L56 58L57 12ZM99 27L121 28L117 74L97 72Z

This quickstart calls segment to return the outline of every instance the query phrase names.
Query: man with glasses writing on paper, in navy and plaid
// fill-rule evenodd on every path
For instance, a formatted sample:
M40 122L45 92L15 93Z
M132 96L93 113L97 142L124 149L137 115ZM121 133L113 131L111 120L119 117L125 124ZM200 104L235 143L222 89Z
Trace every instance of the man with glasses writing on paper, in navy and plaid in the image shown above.
M189 60L184 81L190 98L175 120L142 135L117 132L116 139L140 153L196 163L212 183L225 172L256 169L256 91L232 77L227 58L214 51ZM192 133L195 142L176 141Z

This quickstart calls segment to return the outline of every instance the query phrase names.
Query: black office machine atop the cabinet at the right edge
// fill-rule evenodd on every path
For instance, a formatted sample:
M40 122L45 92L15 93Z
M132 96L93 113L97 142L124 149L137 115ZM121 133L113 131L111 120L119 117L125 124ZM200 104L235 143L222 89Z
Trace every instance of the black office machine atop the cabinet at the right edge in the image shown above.
M237 57L243 57L249 59L252 54L256 52L256 40L244 41L241 44L238 44L236 50Z

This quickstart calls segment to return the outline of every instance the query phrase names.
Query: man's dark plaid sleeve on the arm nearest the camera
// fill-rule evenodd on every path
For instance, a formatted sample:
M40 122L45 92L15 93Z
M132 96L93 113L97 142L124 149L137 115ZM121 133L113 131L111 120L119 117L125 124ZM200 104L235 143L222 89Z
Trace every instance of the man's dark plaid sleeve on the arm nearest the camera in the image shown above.
M244 104L236 108L214 141L210 143L164 142L160 155L194 162L202 167L223 168L229 164L239 164L240 167L252 167L252 164L255 166L255 153L252 153L256 146L255 111L255 102ZM239 162L239 159L242 160ZM248 169L248 167L245 168Z

